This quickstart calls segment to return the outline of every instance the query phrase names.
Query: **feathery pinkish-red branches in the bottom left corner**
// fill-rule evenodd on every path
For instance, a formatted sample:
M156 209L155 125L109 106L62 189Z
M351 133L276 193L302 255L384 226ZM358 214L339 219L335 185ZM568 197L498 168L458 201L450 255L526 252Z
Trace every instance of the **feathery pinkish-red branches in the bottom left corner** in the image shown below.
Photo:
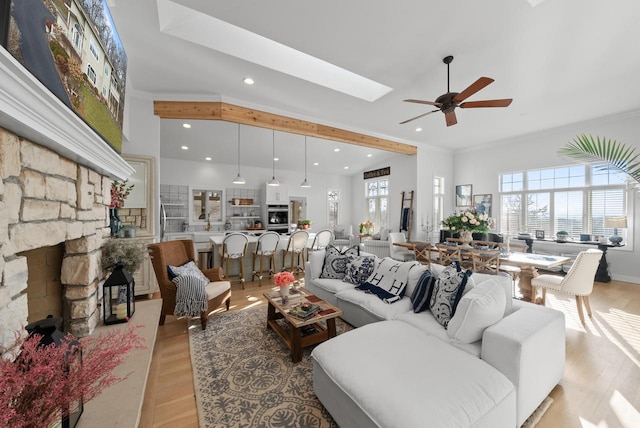
M49 426L60 411L66 415L80 399L86 403L126 379L129 374L119 377L113 370L130 351L145 348L138 328L129 325L80 341L67 335L60 346L39 346L40 335L28 337L15 360L0 358L0 426Z

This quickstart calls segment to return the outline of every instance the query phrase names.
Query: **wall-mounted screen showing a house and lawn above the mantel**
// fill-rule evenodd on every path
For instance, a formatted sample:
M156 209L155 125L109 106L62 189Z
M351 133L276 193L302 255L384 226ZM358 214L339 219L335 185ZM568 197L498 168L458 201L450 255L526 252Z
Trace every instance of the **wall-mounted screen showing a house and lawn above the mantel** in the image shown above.
M105 0L13 0L7 50L121 151L127 56Z

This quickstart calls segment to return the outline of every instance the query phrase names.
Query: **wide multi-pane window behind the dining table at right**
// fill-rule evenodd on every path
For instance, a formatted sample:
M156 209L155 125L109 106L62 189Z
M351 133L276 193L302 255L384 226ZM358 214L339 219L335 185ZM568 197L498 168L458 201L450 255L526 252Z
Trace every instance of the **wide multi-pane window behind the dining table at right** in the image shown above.
M602 164L500 174L501 232L609 236L604 218L627 214L626 183Z

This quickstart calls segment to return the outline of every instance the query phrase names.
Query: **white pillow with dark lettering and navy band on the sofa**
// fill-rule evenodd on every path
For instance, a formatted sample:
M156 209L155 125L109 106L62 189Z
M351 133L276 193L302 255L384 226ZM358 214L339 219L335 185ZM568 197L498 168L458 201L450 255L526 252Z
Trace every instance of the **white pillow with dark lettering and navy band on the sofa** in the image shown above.
M399 262L385 257L376 266L364 284L356 288L373 292L386 303L393 303L402 298L409 279L409 271L417 262Z

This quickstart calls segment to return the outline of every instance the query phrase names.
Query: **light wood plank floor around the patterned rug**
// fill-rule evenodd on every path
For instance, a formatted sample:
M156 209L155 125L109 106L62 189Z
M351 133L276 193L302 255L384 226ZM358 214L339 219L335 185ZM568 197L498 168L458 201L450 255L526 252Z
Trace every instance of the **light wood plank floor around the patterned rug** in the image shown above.
M264 304L262 293L270 288L268 280L245 290L233 285L232 310ZM582 326L575 299L547 294L547 306L566 316L567 360L538 428L640 427L640 285L596 283L590 301L593 317ZM143 428L198 426L187 334L187 321L173 316L158 329Z

